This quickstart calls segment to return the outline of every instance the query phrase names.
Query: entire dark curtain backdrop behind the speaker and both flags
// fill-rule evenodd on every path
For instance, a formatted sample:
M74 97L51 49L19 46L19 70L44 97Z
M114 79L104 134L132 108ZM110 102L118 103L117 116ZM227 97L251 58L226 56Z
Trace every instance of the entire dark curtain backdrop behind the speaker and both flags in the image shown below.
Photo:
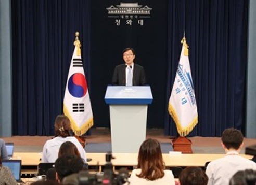
M105 8L120 4L101 2ZM148 127L164 128L165 134L177 135L167 107L185 31L199 114L199 123L189 136L220 136L226 127L244 130L248 1L122 2L139 2L153 8L151 20L145 22L148 26L153 21L151 27L139 32L132 30L134 27L118 31L126 36L126 44L138 47L136 59L144 59L142 64L154 96L148 110ZM120 50L106 45L106 32L111 29L96 13L99 8L96 0L12 1L14 135L53 134L54 119L62 113L76 31L80 32L83 45L95 126L109 126L104 94L113 67L122 62L121 51L126 45L118 44L118 39L112 40L112 46L117 44ZM149 40L139 40L143 32ZM143 51L140 42L145 48L157 45ZM111 58L118 54L118 61Z

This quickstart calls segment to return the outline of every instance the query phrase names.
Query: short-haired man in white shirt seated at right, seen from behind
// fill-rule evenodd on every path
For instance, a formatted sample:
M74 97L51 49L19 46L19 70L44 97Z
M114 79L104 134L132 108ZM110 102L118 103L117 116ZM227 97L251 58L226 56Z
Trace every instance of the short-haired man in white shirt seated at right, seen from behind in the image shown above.
M206 174L209 178L208 184L229 184L231 177L239 170L256 169L256 163L239 155L244 146L244 137L241 131L231 128L223 131L221 145L226 156L214 160L207 165Z

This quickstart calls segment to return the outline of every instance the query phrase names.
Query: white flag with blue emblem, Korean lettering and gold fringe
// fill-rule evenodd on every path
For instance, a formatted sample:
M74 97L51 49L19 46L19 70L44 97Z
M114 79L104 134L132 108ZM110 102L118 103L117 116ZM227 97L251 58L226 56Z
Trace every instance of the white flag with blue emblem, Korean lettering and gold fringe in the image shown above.
M197 103L191 76L188 45L182 39L182 51L175 76L168 110L180 136L188 135L198 123Z

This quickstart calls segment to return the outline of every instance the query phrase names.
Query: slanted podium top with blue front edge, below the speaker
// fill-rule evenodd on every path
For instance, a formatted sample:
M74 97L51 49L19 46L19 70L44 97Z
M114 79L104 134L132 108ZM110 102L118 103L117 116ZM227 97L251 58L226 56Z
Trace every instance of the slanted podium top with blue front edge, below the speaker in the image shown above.
M152 101L149 86L108 86L105 94L105 102L110 105L146 105Z

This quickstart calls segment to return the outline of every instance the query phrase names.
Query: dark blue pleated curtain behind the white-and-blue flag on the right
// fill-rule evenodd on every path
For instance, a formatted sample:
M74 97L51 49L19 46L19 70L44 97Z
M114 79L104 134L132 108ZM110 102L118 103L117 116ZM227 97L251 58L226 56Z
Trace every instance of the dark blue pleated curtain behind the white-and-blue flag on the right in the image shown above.
M189 136L220 136L228 127L245 131L248 1L169 1L170 97L185 31L199 123ZM177 47L178 46L178 47ZM165 134L177 135L167 114Z

